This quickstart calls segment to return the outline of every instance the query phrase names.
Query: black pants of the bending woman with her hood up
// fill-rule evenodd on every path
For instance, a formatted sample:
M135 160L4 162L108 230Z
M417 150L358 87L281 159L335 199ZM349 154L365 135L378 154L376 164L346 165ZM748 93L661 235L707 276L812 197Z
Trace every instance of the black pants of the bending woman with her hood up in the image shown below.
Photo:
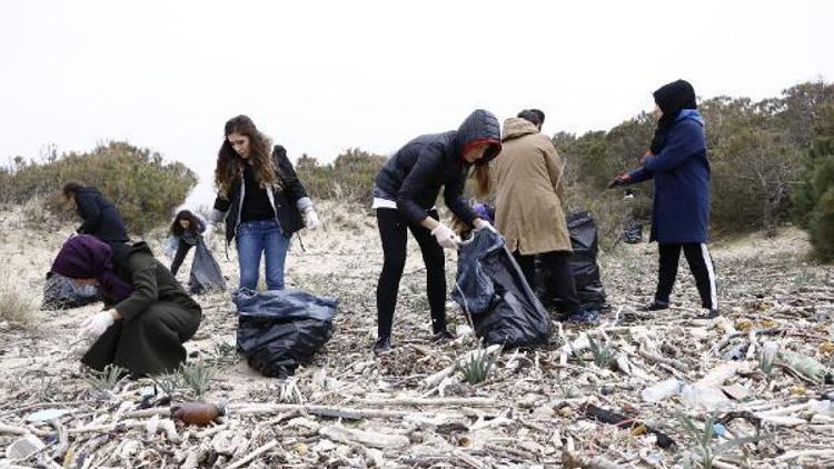
M429 211L435 220L437 210ZM431 329L435 333L446 330L446 269L445 255L431 232L419 226L409 224L397 209L377 209L379 238L383 240L383 273L377 285L377 331L378 337L390 337L394 309L397 306L397 291L403 269L406 266L407 230L417 240L426 263L426 289L431 309Z

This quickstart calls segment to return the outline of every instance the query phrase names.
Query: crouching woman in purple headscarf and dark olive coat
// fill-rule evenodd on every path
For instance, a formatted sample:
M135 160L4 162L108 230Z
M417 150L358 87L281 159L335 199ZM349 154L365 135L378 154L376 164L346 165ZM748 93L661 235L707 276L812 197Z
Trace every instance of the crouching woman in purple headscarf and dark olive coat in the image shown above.
M99 286L111 305L81 326L82 336L97 339L81 361L95 370L116 363L135 377L175 371L202 310L145 242L122 247L113 255L99 239L78 234L52 263L53 272L77 285Z

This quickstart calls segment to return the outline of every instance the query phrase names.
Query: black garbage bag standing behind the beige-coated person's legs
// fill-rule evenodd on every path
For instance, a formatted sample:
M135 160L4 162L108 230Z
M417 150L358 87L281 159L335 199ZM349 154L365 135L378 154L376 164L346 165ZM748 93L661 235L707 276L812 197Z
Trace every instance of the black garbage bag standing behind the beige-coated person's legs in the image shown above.
M574 253L570 256L570 272L576 283L576 292L583 309L587 311L599 311L607 307L605 288L599 279L599 266L596 263L599 253L599 237L596 222L589 211L570 212L566 217L567 230L570 234L570 247ZM545 275L536 259L536 291L544 295L547 289L545 285L550 281ZM559 307L558 298L548 299L556 308Z

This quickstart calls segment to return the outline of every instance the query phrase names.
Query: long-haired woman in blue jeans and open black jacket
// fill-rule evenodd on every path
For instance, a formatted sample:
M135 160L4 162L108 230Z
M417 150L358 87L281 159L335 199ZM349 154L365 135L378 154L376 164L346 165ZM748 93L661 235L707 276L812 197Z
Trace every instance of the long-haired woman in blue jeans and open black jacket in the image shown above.
M279 144L272 148L251 119L230 119L224 134L211 221L225 221L227 243L237 239L240 288L257 289L264 256L267 289L280 290L290 237L318 227L318 216L287 151Z

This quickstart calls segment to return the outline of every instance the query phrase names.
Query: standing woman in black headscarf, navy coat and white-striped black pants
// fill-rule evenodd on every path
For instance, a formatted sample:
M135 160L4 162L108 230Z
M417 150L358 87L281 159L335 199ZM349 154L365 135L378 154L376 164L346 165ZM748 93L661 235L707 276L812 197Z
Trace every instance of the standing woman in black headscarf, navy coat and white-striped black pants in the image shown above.
M701 296L706 318L718 316L715 269L707 249L711 170L706 154L704 120L697 111L695 90L684 80L654 92L662 112L651 149L641 168L616 177L608 187L654 180L652 234L657 241L657 290L648 310L669 307L681 251Z

